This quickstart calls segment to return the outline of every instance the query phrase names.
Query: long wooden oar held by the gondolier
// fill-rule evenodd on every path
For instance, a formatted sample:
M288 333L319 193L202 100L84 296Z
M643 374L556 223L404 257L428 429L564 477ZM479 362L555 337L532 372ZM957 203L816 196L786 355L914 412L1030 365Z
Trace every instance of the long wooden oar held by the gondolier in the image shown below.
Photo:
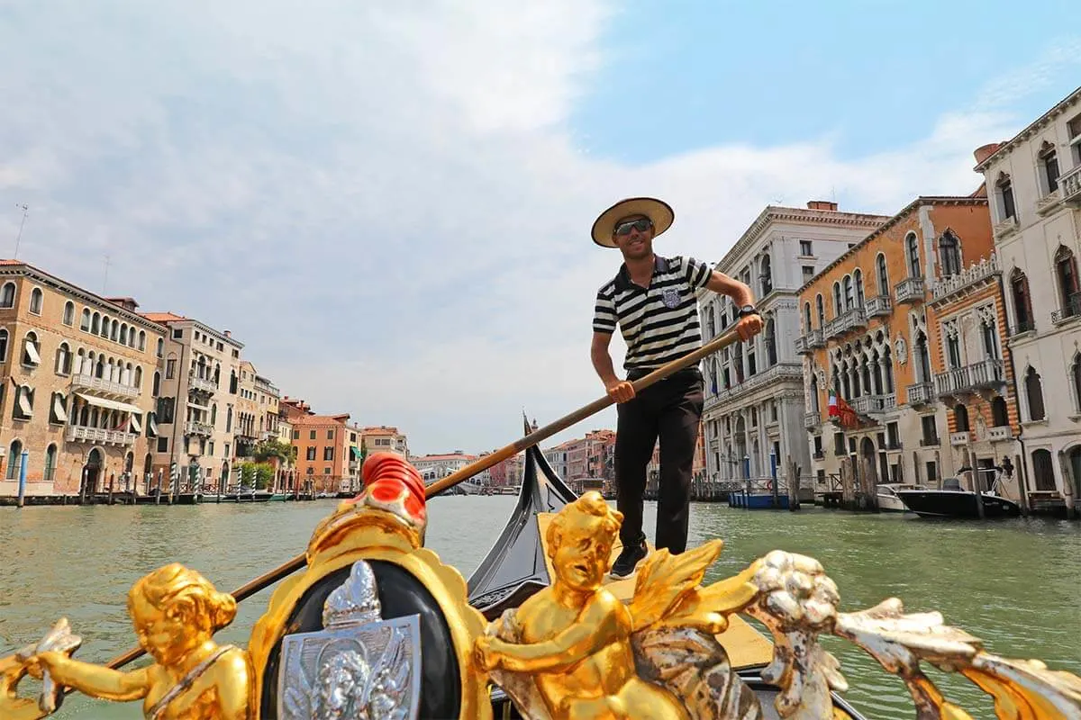
M707 342L706 344L695 350L694 352L688 353L682 357L673 359L671 363L658 367L653 372L650 372L649 375L639 378L638 380L635 380L630 384L633 385L636 393L640 393L644 389L652 385L653 383L667 378L671 373L684 370L694 365L695 363L699 362L703 357L706 357L707 355L712 355L713 353L719 352L724 348L728 348L733 342L736 342L738 339L739 336L736 335L735 327L733 327L726 332L722 332L717 338ZM482 473L489 467L499 464L507 458L513 457L519 452L521 452L522 450L525 450L526 448L532 447L537 443L540 443L542 440L551 437L556 433L566 430L568 427L577 422L582 422L589 416L600 412L601 410L612 405L613 403L615 403L615 400L613 400L611 397L608 396L608 394L605 394L603 397L593 400L589 405L583 406L577 410L575 410L574 412L565 415L559 420L556 420L555 422L548 423L544 427L533 431L525 437L515 443L511 443L510 445L499 450L496 450L492 454L484 456L477 462L470 463L465 467L463 467L462 470L451 473L446 477L436 480L435 483L432 483L431 485L427 486L424 489L424 494L426 498L431 498L433 494L438 492L442 492L448 488L452 488L458 483L467 480L473 475ZM237 599L237 602L240 602L251 597L252 595L255 595L259 590L269 587L270 585L273 585L282 578L286 578L293 574L297 570L302 569L305 565L307 565L305 556L297 555L289 562L285 562L284 565L279 566L273 570L270 570L269 572L259 575L258 578L245 583L244 585L241 585L240 587L238 587L232 592L232 597ZM126 665L128 663L132 662L133 660L136 660L137 657L141 657L144 654L145 651L142 648L132 648L124 654L118 655L117 657L114 657L111 661L109 661L108 666L111 668L118 668L123 665Z

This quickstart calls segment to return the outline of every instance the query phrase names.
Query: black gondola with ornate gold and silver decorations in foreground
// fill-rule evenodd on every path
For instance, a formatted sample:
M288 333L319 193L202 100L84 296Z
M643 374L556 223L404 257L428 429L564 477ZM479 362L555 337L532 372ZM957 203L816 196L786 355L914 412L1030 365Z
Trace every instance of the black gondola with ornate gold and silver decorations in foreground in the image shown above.
M931 665L991 694L1000 718L1081 720L1081 678L989 654L895 598L842 612L812 558L774 551L704 584L721 552L711 540L678 556L651 551L613 580L622 516L596 491L572 492L535 444L506 450L525 452L518 504L468 583L424 543L440 488L373 453L364 489L284 571L226 594L171 563L132 586L141 646L108 666L75 657L82 639L64 619L0 657L0 718L36 720L82 692L142 699L144 717L161 720L859 720L841 696L858 676L819 643L831 635L897 675L916 717L971 718L923 674ZM246 644L219 643L237 600L267 578L280 582ZM112 669L144 652L150 669ZM36 695L19 694L27 675L42 679Z

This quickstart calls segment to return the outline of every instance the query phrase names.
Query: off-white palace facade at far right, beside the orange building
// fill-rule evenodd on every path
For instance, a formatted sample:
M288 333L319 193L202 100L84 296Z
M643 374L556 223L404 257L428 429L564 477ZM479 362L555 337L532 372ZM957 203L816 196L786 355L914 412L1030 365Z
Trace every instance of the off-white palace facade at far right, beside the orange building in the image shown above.
M1081 507L1081 89L980 149L1033 507Z

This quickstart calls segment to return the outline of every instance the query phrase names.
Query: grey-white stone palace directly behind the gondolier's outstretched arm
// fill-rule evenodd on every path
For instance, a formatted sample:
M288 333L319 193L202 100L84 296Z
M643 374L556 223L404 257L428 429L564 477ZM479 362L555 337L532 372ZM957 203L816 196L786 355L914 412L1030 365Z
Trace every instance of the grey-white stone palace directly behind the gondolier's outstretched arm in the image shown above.
M809 474L803 433L803 368L793 350L799 336L798 290L827 264L888 218L844 213L836 203L812 201L806 208L768 206L717 264L755 293L764 330L704 361L703 410L708 481L778 476L787 461ZM728 297L698 295L707 341L735 324Z

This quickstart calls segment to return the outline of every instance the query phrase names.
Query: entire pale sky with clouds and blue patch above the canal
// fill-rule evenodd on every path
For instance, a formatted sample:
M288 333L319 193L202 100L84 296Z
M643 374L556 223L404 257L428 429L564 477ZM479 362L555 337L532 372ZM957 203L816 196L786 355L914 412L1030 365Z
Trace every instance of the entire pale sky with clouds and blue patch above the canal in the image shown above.
M1066 1L817 4L0 0L0 256L25 203L19 259L415 453L495 449L603 394L616 200L717 262L766 204L969 194L1081 84Z

